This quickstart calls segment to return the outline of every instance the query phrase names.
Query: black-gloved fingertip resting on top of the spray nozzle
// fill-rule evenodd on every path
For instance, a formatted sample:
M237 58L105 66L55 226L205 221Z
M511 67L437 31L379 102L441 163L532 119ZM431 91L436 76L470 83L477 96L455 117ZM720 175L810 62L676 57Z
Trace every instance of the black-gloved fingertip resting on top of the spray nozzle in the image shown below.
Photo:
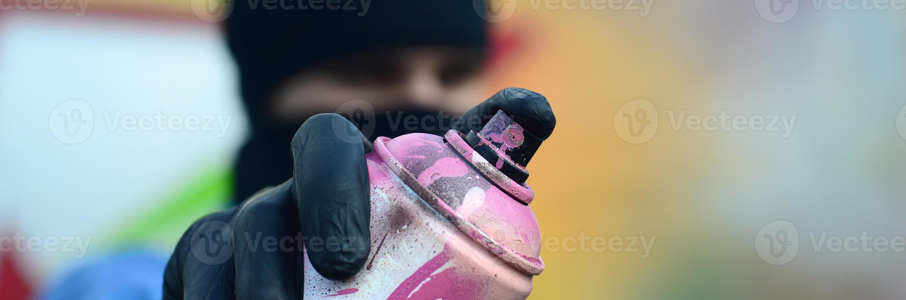
M554 133L554 127L557 125L554 111L545 96L528 89L506 88L496 92L475 108L469 109L457 121L455 127L464 133L469 130L480 132L500 109L542 141Z

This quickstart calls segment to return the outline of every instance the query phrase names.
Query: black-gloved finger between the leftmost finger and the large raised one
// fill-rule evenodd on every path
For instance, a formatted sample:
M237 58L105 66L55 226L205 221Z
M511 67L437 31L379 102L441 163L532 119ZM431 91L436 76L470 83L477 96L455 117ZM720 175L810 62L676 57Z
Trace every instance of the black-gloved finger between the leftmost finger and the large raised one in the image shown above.
M301 291L299 219L290 186L286 181L255 194L236 214L236 299L296 299Z

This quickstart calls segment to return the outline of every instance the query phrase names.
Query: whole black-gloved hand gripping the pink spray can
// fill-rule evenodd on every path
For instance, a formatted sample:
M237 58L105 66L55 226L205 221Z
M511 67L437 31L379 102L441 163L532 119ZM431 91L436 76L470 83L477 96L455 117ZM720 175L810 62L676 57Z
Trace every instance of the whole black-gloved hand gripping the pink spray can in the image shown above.
M556 124L544 96L510 88L470 109L454 127L478 131L498 109L542 139ZM364 156L371 143L363 136L350 143L345 134L361 136L339 115L311 117L292 141L293 178L192 224L165 270L164 299L299 298L306 237L323 241L318 251L311 249L313 241L304 243L323 277L358 273L371 247Z

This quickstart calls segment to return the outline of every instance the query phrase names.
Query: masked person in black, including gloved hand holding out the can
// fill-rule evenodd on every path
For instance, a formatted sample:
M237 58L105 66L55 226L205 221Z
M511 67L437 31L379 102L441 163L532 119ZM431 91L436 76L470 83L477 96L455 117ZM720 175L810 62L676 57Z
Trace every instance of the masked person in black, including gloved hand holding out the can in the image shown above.
M295 249L308 247L301 239L357 237L341 239L340 251L308 252L324 277L355 275L371 246L370 139L480 130L498 109L542 140L550 136L550 105L526 89L501 90L468 109L480 96L487 51L487 23L473 1L367 3L345 10L236 2L226 36L252 125L235 176L236 199L247 200L186 231L164 274L165 299L302 295L302 252L255 251L248 236L299 237L281 244ZM326 114L334 112L342 117Z

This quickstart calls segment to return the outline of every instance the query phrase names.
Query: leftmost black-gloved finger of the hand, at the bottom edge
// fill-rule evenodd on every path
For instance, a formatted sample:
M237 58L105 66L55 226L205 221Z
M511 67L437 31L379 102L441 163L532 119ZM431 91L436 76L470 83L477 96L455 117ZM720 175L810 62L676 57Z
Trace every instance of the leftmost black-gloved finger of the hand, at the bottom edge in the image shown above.
M211 213L186 230L164 270L164 299L233 298L229 224L236 210Z

